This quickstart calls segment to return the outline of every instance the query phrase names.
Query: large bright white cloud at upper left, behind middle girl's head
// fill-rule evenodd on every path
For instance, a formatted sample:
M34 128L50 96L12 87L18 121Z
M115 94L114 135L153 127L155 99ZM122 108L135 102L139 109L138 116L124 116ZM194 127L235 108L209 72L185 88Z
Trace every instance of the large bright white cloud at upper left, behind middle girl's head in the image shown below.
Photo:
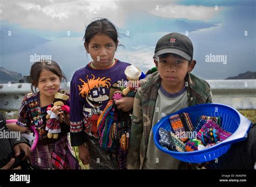
M126 17L116 1L6 1L0 8L0 20L38 30L84 32L84 26L96 17L122 27Z

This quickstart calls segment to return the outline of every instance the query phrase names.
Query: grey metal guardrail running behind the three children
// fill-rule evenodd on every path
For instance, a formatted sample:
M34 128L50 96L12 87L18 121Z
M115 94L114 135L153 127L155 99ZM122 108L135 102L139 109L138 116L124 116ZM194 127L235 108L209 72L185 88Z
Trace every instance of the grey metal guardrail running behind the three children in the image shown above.
M213 102L238 110L256 110L256 80L208 80ZM69 86L69 85L68 85ZM62 84L62 88L70 87ZM29 83L0 84L0 109L14 111L21 106L23 97L31 92Z

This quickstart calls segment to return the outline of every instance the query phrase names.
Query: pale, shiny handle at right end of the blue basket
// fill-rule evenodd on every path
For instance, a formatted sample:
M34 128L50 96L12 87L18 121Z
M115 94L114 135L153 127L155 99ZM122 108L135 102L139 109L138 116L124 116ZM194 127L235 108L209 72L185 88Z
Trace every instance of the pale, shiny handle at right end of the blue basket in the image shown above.
M250 130L252 122L246 117L242 116L242 114L238 113L240 117L240 124L229 138L221 142L221 144L229 144L230 142L235 143L239 141L244 141L247 138L247 132Z

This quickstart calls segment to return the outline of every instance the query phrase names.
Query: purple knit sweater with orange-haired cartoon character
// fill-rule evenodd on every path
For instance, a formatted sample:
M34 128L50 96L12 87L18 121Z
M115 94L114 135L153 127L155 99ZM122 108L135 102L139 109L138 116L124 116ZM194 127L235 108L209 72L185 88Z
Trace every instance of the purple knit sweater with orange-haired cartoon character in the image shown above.
M129 63L117 59L107 69L95 69L91 63L75 72L70 85L71 145L80 146L86 137L98 138L97 120L111 99L127 81L124 70Z

